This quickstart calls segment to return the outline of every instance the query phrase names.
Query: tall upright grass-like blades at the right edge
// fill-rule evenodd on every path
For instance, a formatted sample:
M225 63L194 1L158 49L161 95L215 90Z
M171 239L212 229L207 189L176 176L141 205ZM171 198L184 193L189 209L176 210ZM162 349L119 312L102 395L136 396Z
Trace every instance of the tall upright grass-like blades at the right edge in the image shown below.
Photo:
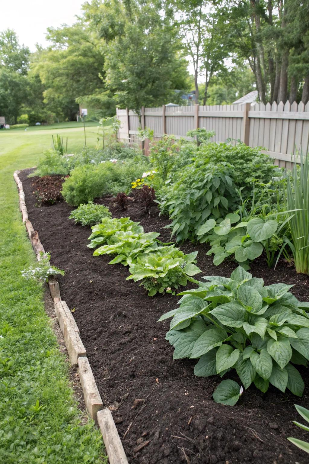
M287 240L296 272L309 274L309 156L301 155L300 167L294 162L292 178L288 179L287 206L296 210L290 219L291 240Z

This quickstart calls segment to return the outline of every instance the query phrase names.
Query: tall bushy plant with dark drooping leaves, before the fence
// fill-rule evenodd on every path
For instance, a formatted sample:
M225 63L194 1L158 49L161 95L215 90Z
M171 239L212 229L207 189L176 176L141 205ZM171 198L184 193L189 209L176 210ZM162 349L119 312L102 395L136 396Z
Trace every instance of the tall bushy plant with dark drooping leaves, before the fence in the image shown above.
M167 191L160 208L168 209L172 236L177 242L194 240L208 219L218 219L235 208L235 186L224 163L212 166L201 161L189 166L182 179Z

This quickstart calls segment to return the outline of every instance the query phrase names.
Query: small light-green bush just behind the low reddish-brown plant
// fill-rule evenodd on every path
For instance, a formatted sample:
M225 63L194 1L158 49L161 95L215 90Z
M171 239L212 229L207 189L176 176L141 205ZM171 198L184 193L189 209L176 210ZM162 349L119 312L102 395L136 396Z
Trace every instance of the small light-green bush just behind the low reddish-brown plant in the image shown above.
M38 167L30 174L30 177L45 175L68 175L74 164L74 156L60 156L53 150L44 151L44 155L38 161Z

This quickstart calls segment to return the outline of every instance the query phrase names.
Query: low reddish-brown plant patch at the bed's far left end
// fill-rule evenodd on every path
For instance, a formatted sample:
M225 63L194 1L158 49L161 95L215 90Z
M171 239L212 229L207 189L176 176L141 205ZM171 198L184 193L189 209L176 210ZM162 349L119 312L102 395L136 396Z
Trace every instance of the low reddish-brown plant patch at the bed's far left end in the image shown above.
M63 201L61 194L64 177L59 175L45 175L32 179L32 190L39 206L53 205L57 201Z

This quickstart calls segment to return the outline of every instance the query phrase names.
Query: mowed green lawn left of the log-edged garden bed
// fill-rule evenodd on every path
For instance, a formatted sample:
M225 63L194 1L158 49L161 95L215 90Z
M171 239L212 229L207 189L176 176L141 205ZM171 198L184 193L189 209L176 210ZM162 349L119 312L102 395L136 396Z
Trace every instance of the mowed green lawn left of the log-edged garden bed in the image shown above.
M94 147L95 133L87 129ZM44 311L43 288L21 277L36 261L13 172L37 164L51 133L83 146L83 129L0 131L0 463L102 463L101 435L76 408L68 363ZM82 421L82 422L81 422Z

